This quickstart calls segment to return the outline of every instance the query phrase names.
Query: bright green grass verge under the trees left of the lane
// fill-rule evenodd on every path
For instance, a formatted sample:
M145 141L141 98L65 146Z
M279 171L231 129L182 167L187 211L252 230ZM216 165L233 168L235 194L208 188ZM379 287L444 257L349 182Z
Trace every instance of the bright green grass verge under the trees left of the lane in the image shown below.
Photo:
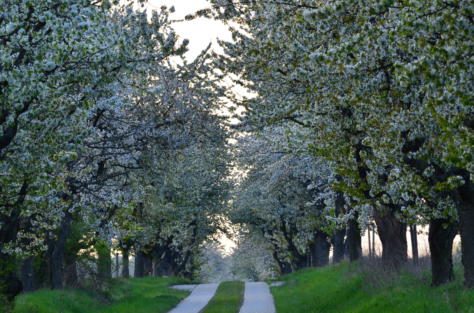
M182 278L123 279L116 295L105 300L94 291L41 289L16 298L17 313L164 313L190 294L171 285L195 284Z

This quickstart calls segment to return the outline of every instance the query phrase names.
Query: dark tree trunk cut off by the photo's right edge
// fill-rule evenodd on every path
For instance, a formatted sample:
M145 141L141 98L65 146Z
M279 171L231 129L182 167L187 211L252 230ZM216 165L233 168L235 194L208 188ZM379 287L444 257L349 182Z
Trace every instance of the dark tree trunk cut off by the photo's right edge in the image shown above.
M470 179L471 173L467 170L463 172L465 183L453 189L453 199L459 218L465 285L474 288L474 183Z

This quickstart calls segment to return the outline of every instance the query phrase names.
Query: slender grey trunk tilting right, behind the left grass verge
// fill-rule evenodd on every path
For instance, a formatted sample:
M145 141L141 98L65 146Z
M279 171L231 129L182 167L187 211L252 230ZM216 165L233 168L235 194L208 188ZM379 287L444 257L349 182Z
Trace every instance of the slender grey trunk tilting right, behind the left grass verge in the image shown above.
M63 287L63 279L61 273L63 271L64 251L66 250L66 241L71 229L71 218L73 214L69 212L69 207L64 211L64 217L61 220L57 243L51 256L51 289L61 289Z

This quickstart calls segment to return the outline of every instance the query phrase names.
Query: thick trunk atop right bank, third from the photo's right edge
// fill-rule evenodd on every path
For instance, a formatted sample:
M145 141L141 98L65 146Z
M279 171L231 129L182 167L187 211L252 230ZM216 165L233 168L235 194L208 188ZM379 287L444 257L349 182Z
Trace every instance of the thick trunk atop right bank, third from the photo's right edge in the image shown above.
M401 223L391 211L383 214L374 209L379 238L382 242L382 263L384 267L399 268L408 260L407 226Z

